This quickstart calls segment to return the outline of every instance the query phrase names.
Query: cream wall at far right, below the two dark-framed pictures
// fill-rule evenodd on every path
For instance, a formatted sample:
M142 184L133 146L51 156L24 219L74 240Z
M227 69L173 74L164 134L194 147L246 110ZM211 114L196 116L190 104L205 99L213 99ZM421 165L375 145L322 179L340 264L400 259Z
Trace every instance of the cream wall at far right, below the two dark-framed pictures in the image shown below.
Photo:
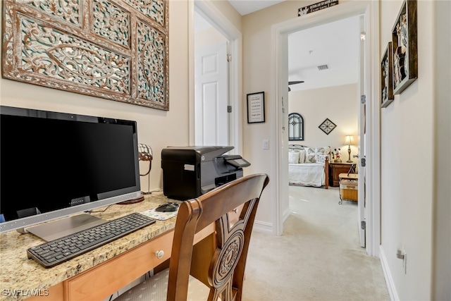
M390 106L381 110L381 257L390 279L392 296L399 300L432 300L434 293L438 295L441 292L441 296L445 296L444 290L447 290L447 298L437 300L449 300L450 297L449 199L446 207L445 200L436 196L443 197L445 190L448 198L450 195L451 11L449 2L440 4L447 8L447 13L440 14L440 9L436 11L435 6L440 2L417 1L419 77L402 94L396 95ZM391 30L401 6L402 1L381 1L380 56L391 39ZM443 28L440 37L435 36L436 26ZM435 66L438 59L435 51L442 47L447 47L444 51L447 55L442 52L439 57L445 61L437 62ZM443 63L447 68L437 68ZM443 82L443 78L447 78L447 82ZM445 97L445 94L448 95L447 105L438 98L438 95ZM437 111L438 105L447 109L447 113ZM447 130L438 131L442 128L436 123L438 116L445 121L443 125L447 125ZM445 149L436 149L438 145L447 147L447 157L443 158ZM440 155L444 161L440 161ZM445 164L445 167L439 167L440 164ZM438 177L438 170L447 178ZM447 210L447 217L440 216L440 213L434 216L434 207L437 206ZM438 223L447 225L447 234L435 233L433 225ZM447 255L435 247L437 243L447 247ZM407 254L405 273L402 260L396 257L398 249ZM439 261L434 257L434 250L441 256ZM447 264L447 268L440 270L443 264ZM447 280L434 281L433 273L437 269L447 276Z

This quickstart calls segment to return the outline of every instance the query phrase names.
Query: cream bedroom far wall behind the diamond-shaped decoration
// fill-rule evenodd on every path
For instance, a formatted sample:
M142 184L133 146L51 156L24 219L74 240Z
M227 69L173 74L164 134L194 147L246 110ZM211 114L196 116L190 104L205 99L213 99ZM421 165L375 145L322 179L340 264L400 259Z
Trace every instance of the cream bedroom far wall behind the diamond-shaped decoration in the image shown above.
M352 155L357 154L357 122L359 113L359 93L357 83L325 87L321 89L292 91L289 93L289 113L299 113L304 118L304 141L290 141L290 144L306 145L308 147L330 146L330 149L340 148L342 161L348 159L345 136L354 137L351 145ZM326 135L319 125L328 118L335 123L336 128Z

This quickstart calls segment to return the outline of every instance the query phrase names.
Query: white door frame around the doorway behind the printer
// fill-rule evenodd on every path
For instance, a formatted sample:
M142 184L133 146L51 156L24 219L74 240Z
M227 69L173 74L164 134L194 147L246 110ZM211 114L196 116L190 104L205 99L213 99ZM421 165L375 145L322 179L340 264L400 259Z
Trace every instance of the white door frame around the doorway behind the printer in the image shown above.
M194 10L205 20L208 20L218 32L226 37L230 42L230 54L232 61L229 65L229 103L232 106L232 113L229 115L229 141L235 147L230 153L242 154L242 34L230 23L226 16L209 1L188 1L188 70L189 70L189 127L190 145L194 145Z

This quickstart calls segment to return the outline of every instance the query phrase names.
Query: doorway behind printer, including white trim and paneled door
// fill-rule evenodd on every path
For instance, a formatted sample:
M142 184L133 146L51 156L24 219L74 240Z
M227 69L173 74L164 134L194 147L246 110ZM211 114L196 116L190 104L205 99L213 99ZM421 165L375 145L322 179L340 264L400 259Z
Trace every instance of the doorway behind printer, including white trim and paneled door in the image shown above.
M242 153L242 109L240 104L241 90L241 32L239 32L218 11L214 4L208 1L190 1L190 145L230 145L235 147L231 154ZM202 19L202 20L201 20ZM201 21L202 26L211 28L209 37L214 37L215 42L204 47L206 63L201 68L196 68L196 56L202 56L202 47L196 47L195 23ZM204 45L205 46L205 45ZM220 54L220 52L222 54ZM210 75L215 72L219 61L223 70L219 71L222 78L212 79ZM199 60L198 60L199 61ZM224 67L226 65L226 67ZM200 65L199 65L200 66ZM202 70L204 68L204 70ZM197 71L202 71L198 72ZM207 72L203 72L203 71ZM203 82L199 76L206 75ZM225 78L224 78L225 76ZM216 82L216 83L215 83ZM221 89L218 90L218 89ZM203 102L209 97L213 102ZM212 126L212 122L214 125ZM226 126L224 126L226 125ZM214 133L212 132L214 131ZM211 138L214 137L214 138Z

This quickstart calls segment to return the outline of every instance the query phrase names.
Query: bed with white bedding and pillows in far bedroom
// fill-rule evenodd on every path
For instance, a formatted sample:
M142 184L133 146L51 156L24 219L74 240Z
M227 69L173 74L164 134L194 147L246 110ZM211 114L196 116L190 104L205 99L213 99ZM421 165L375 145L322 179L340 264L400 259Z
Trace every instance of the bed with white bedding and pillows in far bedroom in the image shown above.
M290 145L288 183L290 185L329 187L329 147L311 148ZM298 162L298 163L296 163Z

